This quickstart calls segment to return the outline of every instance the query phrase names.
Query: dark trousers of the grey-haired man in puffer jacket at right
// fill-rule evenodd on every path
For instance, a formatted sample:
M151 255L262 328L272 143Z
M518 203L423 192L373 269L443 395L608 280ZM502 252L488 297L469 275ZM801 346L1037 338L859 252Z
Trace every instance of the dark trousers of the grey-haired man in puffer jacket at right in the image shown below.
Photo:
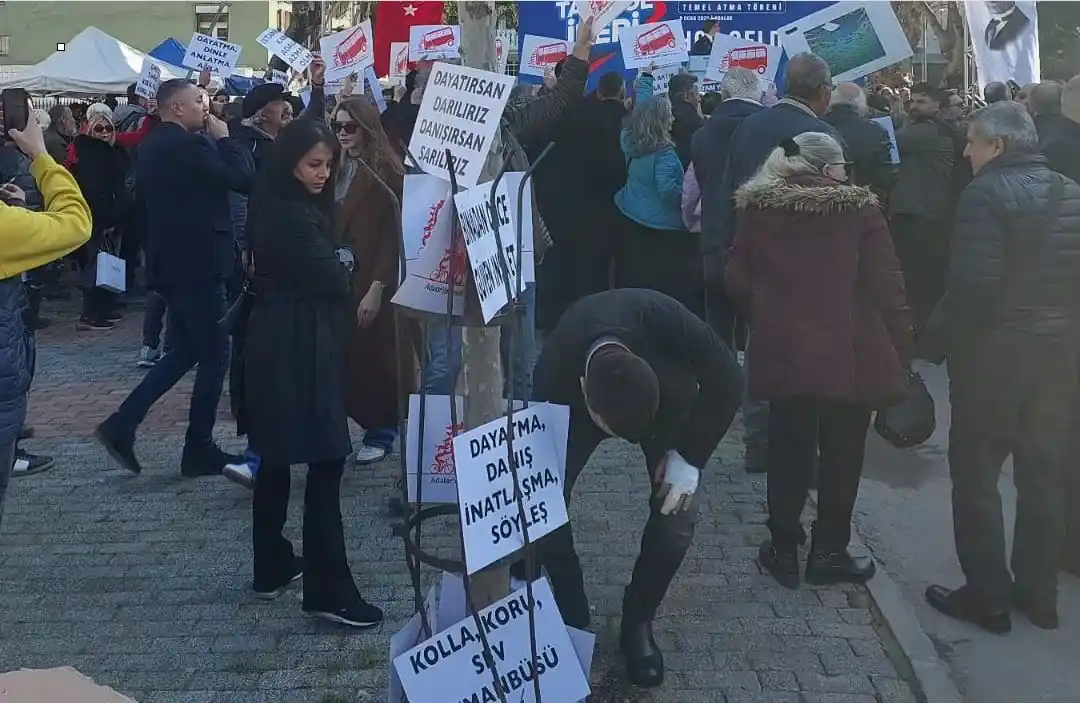
M1054 597L1065 537L1064 469L1077 380L1071 363L1014 361L1011 373L949 360L949 474L956 553L968 584L1007 608L1013 583ZM998 479L1013 457L1016 529L1010 565Z

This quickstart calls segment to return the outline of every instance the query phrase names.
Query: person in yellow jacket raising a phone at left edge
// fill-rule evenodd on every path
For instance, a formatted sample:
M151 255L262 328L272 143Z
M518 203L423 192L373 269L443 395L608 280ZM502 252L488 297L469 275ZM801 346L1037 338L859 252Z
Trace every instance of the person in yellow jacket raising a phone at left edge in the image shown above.
M0 185L0 518L33 375L33 338L23 326L22 274L82 246L91 229L90 206L71 174L45 151L37 120L8 137L30 158L44 208L32 213L21 207L23 190Z

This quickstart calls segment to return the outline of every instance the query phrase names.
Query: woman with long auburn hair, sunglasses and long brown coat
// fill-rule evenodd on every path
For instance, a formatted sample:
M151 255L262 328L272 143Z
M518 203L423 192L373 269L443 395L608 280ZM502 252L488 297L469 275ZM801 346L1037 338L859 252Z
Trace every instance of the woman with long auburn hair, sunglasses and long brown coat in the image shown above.
M338 239L353 247L357 262L352 295L356 324L349 338L346 401L349 417L365 430L356 451L356 462L363 464L393 449L399 394L409 390L413 379L411 337L404 334L404 327L403 334L395 335L399 321L390 305L397 289L401 243L394 222L400 215L386 189L401 198L405 167L370 98L350 97L338 104L330 126L342 151L335 188Z

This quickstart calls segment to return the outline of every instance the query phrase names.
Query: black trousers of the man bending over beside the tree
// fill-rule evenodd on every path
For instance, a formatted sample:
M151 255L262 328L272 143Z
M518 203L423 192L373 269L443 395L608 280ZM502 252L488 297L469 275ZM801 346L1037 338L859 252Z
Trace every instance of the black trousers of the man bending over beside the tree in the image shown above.
M581 410L584 413L584 410ZM570 416L570 433L566 450L566 502L569 504L573 485L604 435L593 424L588 414ZM660 459L671 446L642 446L649 471L649 485ZM261 476L261 475L260 475ZM683 558L693 540L694 524L702 489L699 488L690 508L680 513L662 515L656 492L649 496L649 518L642 533L642 546L634 564L634 572L626 586L622 603L624 622L647 622L660 608L667 587L678 572ZM565 525L537 542L537 562L548 570L555 601L563 619L570 626L583 627L589 623L589 600L585 597L581 560L573 546L573 530ZM534 577L537 574L532 574Z

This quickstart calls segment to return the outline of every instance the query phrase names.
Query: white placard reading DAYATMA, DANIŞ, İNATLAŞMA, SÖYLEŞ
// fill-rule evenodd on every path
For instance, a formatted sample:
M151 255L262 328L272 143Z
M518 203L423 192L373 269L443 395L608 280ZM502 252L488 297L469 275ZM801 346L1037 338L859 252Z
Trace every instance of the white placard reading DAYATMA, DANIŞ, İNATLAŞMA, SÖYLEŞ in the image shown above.
M548 410L531 406L512 416L514 464L517 467L525 523L514 499L508 462L507 419L498 418L454 438L458 476L458 511L464 542L465 570L475 573L562 527L569 517L563 497L554 428Z

